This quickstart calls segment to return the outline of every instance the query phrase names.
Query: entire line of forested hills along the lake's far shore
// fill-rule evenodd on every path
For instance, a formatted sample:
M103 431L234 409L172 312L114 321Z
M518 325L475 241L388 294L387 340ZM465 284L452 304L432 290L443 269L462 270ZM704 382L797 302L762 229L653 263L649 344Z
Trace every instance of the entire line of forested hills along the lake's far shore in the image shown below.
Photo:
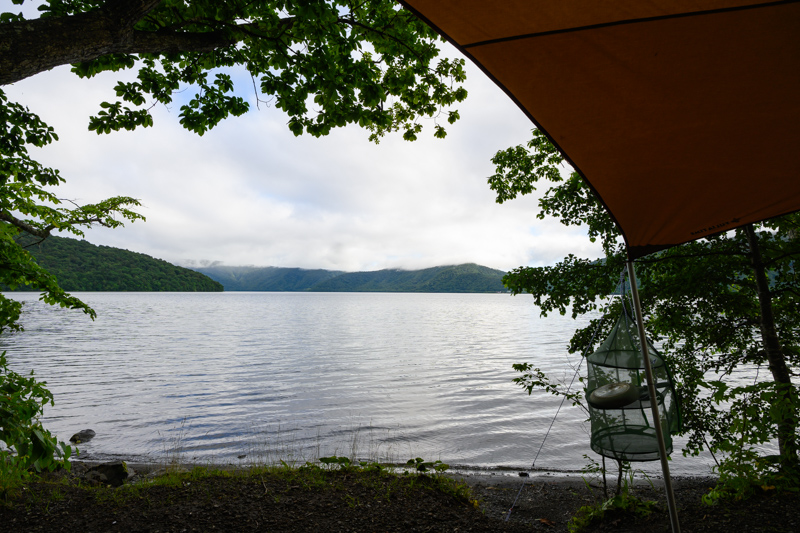
M341 272L282 267L183 268L149 255L84 240L22 237L66 291L504 292L502 270L476 264L424 270ZM6 287L0 289L7 290ZM18 290L31 290L19 287Z

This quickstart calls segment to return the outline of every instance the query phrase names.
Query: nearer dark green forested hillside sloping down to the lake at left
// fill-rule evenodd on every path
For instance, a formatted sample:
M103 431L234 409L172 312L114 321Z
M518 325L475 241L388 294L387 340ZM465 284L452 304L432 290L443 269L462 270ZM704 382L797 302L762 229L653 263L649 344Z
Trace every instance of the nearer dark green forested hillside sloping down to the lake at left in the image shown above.
M86 241L50 237L40 244L28 237L27 250L68 292L75 291L222 291L203 274L149 255ZM18 287L17 290L31 290Z

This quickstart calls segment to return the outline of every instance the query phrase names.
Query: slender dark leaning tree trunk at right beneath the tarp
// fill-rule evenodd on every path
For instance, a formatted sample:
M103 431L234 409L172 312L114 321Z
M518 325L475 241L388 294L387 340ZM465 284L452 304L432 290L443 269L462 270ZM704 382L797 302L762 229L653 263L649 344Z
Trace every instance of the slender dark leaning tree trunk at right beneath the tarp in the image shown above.
M789 368L786 366L786 358L781 349L778 332L775 328L775 314L772 309L772 294L769 289L767 272L764 262L761 259L761 251L758 248L758 236L752 224L744 226L747 235L747 242L750 245L750 263L753 266L756 278L756 289L758 292L758 303L761 308L759 324L761 327L761 341L767 353L769 369L772 372L772 379L777 384L778 394L781 404L791 406L782 420L778 421L778 447L781 456L781 468L783 470L794 470L798 468L798 447L797 447L797 399L792 386L792 378Z

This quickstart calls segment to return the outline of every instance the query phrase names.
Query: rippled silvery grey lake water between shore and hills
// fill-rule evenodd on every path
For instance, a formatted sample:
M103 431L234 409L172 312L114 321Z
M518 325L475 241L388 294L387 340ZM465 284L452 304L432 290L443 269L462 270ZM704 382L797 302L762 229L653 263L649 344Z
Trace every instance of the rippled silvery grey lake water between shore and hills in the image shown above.
M581 358L566 345L585 323L540 318L531 298L507 294L76 295L94 322L35 293L7 294L26 302L25 331L0 337L0 350L47 381L56 405L45 427L65 441L97 432L83 459L336 454L526 469L560 399L528 396L511 365L533 362L569 383ZM585 419L561 409L537 470L576 471L594 456ZM674 474L709 472L709 457L677 450Z

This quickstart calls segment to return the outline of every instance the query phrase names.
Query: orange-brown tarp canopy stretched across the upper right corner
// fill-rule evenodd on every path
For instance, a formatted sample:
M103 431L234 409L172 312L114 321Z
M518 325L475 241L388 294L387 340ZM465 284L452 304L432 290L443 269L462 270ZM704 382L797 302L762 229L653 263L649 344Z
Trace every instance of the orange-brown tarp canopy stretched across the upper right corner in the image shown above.
M800 210L800 2L409 0L640 257Z

